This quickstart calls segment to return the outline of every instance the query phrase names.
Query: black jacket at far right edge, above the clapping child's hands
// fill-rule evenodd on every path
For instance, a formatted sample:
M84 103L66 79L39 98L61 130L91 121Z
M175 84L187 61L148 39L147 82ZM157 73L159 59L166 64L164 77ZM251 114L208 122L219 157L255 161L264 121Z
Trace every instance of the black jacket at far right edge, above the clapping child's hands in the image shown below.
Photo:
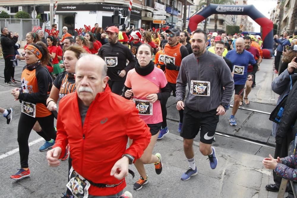
M291 75L291 77L293 77ZM284 108L284 113L277 129L277 136L285 137L287 133L292 132L292 126L297 119L297 83L295 82L289 92Z

